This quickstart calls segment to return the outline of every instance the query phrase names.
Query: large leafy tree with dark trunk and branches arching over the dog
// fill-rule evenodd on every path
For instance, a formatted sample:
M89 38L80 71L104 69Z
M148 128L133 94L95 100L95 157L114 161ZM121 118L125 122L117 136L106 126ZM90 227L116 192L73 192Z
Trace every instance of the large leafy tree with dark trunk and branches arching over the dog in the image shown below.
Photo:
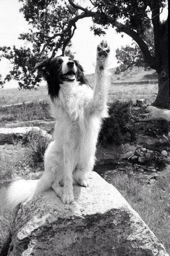
M14 78L19 80L20 87L38 86L41 78L33 69L35 63L50 54L54 57L59 49L64 55L76 30L76 22L92 17L94 34L106 34L106 29L112 26L137 43L147 65L158 73L158 95L153 105L169 106L168 18L163 23L160 21L166 0L87 0L85 8L73 0L19 1L23 3L24 18L33 27L19 38L31 43L31 47L1 47L3 57L14 63L5 81ZM154 54L145 40L145 31L151 25Z

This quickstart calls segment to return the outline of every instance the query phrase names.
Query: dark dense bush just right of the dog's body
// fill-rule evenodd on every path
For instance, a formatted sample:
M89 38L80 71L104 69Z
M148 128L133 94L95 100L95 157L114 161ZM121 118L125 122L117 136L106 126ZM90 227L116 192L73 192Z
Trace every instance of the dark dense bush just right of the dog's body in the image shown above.
M123 144L135 140L136 127L131 118L132 101L115 101L109 105L109 118L103 121L99 141L106 144Z

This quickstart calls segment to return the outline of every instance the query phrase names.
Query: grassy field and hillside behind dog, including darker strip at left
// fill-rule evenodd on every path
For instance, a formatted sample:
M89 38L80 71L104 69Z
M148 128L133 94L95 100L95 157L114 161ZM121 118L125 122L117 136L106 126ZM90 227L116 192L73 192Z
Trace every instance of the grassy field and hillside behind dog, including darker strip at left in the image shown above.
M116 100L136 102L136 100L145 99L147 104L151 104L155 100L158 84L153 71L146 72L143 69L134 69L131 72L124 72L116 76L114 69L112 69L111 74L110 103ZM94 74L87 75L87 78L91 84L94 83ZM37 88L36 91L19 91L17 88L13 88L1 89L0 92L0 123L2 125L4 122L52 120L49 107L50 99L45 86ZM32 103L27 105L24 102ZM23 104L21 106L2 107L16 103Z

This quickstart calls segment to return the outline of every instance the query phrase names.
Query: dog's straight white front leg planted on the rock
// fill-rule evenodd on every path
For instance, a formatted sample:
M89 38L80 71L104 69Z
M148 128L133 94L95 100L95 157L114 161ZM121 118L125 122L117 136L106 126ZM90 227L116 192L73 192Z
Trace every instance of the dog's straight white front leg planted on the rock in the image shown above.
M70 204L74 200L73 196L73 167L74 167L74 149L68 143L63 146L64 153L64 189L61 198L63 203Z

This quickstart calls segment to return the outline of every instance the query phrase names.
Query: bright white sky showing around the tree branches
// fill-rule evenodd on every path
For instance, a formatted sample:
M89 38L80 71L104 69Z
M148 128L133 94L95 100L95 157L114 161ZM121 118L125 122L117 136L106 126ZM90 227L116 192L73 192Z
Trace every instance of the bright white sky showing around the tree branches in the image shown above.
M0 46L16 45L20 47L24 45L24 41L19 40L18 36L20 33L27 32L29 26L23 14L19 12L19 7L18 0L0 0ZM75 59L79 60L86 74L94 72L96 47L102 39L108 42L111 49L110 68L118 66L115 50L132 42L131 37L124 34L122 38L121 34L117 34L113 28L109 28L104 37L94 36L90 31L91 25L91 18L79 20L76 23L77 29L72 39L72 51L76 52ZM10 69L11 64L6 59L1 59L0 74L4 76ZM18 83L11 81L5 87L18 87Z

